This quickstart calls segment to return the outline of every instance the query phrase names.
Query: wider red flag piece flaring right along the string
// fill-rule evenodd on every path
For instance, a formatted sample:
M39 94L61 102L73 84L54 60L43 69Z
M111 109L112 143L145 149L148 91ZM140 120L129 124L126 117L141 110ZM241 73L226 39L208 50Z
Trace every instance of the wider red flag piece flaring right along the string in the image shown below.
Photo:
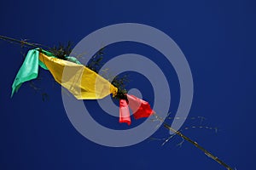
M154 111L151 109L147 101L129 94L127 94L127 99L129 101L129 106L133 112L134 118L139 119L154 114Z

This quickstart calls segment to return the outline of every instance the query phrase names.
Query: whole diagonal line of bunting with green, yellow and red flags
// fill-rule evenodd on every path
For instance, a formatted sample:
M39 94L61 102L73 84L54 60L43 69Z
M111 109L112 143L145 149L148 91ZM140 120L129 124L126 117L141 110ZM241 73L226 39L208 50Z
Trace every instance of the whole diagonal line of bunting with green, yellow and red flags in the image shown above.
M51 58L55 58L55 56L53 54L47 52L47 51L44 51L41 48L40 48L40 50L38 50L38 44L36 44L36 43L26 42L26 41L23 41L23 40L20 41L20 40L17 40L15 38L4 37L4 36L1 36L1 35L0 35L0 39L3 39L5 41L9 41L9 42L15 42L15 43L20 42L22 47L24 45L28 45L30 47L37 48L37 49L30 50L28 52L28 54L26 55L26 59L25 59L24 63L21 65L20 70L18 71L18 74L15 77L15 82L12 85L12 88L13 88L12 96L15 92L18 91L18 89L20 88L20 86L23 82L27 82L27 81L30 81L30 80L35 79L35 78L38 77L38 65L40 65L45 70L49 70L52 73L52 75L55 77L55 80L57 82L59 82L61 85L62 85L62 82L63 82L63 77L62 77L63 76L63 71L64 71L63 67L66 68L66 66L68 66L68 67L70 66L71 68L73 68L73 65L70 65L70 63L65 63L62 60L48 59L49 56ZM66 49L68 49L68 47ZM66 59L67 61L73 62L77 65L81 65L81 63L79 62L78 59L73 58L73 57L65 56L66 54L69 54L69 50L67 50L66 51L67 53L65 52L64 55L62 55L62 52L63 52L62 47L61 47L60 51L61 51L61 55L56 54L59 58ZM44 52L44 55L45 55L44 56L43 54L40 54L40 60L39 60L39 52ZM48 65L47 65L46 60L48 60L47 61ZM49 66L50 69L48 69L48 67L46 65ZM58 65L59 68L61 68L62 70L61 71L55 70L54 65ZM85 69L85 72L86 71L87 70ZM91 73L90 71L88 71L88 72ZM74 73L76 73L76 74L79 73L79 77L82 77L82 78L86 77L86 76L84 76L84 67L83 67L83 69L81 69L80 67L79 68L76 67ZM98 75L95 75L95 74L91 74L91 75L93 75L92 77L90 77L90 78L92 78L92 80L96 80L94 77L99 77ZM70 82L68 82L69 80L67 79L67 86L65 86L65 88L67 88L71 93L73 93L75 95L75 97L77 97L79 99L83 96L82 93L81 93L81 91L83 91L83 90L79 90L79 88L81 88L79 86L79 83L81 84L82 81L79 81L79 83L75 82L76 78L73 78L73 77L76 77L76 75L73 75L73 76L71 75L70 77L71 77L70 80L72 80L73 82L70 83ZM90 78L88 78L88 80L90 80ZM103 78L100 77L100 79L102 80ZM66 79L64 79L64 80L66 80ZM102 82L104 83L105 81L102 80ZM85 83L88 83L88 84L90 84L90 83L93 84L94 83L97 86L97 82L85 82ZM84 86L84 89L86 90L88 87L92 86L91 84ZM97 89L96 86L95 86L95 89L89 88L91 90L90 93L85 91L85 93L84 93L84 95L86 94L85 99L90 99L91 96L93 96L94 98L97 98L99 96L98 93L101 94L101 88ZM78 88L78 89L73 91L73 88ZM105 88L106 87L103 86L102 90L103 91L108 91L109 87L106 88L106 89ZM129 107L128 106L130 106L135 119L142 118L142 117L148 117L148 116L151 116L152 114L155 113L153 110L151 110L150 105L148 104L148 102L144 101L143 99L138 99L136 96L126 94L126 92L122 92L122 89L119 90L119 93L117 94L118 89L115 88L115 87L110 86L110 92L113 95L115 94L115 98L118 97L120 99L119 100L119 105L120 105L120 107L119 107L119 122L126 122L128 125L131 124L131 117L130 117L130 112L129 112ZM100 95L100 96L104 96L104 95ZM88 97L88 96L90 96L90 97ZM158 117L158 116L156 116L156 117ZM162 121L162 120L160 119L160 121ZM230 166L228 166L224 161L221 161L220 159L218 159L217 156L212 155L212 153L210 153L208 150L204 149L200 144L198 144L194 140L189 139L189 137L185 136L180 131L175 130L174 128L172 128L171 126L169 126L166 123L164 124L164 127L166 127L169 131L172 131L172 133L175 133L175 134L179 135L181 138L183 138L183 140L187 140L189 143L194 144L196 148L203 151L207 156L211 157L212 160L217 161L223 167L226 167L226 169L228 169L228 170L233 169ZM168 139L170 139L170 138L168 138ZM165 144L166 141L163 144Z

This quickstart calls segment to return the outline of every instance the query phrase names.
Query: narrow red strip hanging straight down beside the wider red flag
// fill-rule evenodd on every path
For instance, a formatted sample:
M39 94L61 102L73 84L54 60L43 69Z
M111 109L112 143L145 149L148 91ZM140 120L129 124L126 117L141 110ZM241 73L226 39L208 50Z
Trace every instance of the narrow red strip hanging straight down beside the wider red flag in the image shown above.
M125 99L119 100L119 122L131 124L130 111Z

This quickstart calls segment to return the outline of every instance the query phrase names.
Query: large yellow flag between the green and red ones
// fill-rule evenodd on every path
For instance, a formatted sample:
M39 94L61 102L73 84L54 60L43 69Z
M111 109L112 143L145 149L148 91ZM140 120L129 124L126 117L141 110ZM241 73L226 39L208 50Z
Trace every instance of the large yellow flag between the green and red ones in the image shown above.
M48 57L42 53L39 54L39 59L47 66L55 81L77 99L102 99L109 94L117 94L118 88L84 65Z

